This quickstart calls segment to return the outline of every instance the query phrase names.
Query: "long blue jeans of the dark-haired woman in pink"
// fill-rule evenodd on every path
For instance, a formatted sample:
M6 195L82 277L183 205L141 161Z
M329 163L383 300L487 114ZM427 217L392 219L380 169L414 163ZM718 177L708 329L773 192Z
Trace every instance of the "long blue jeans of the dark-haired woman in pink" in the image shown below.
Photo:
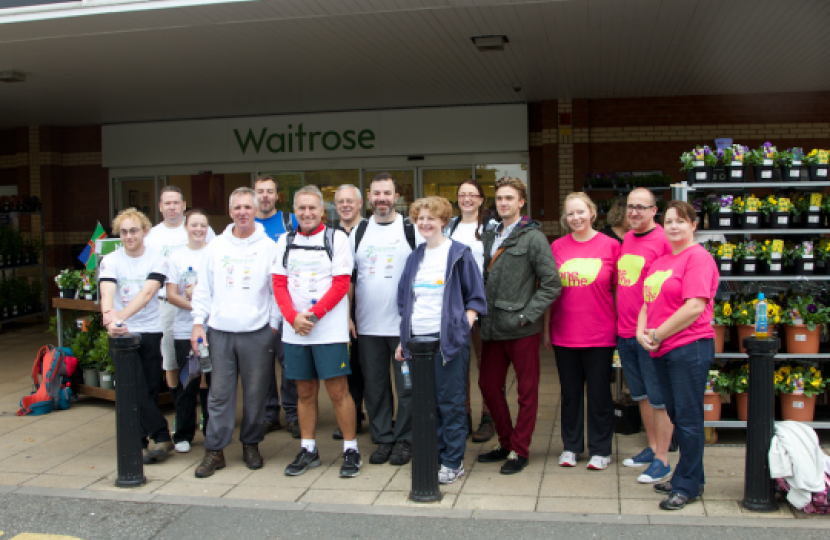
M703 474L703 392L715 358L715 341L699 339L654 359L666 412L674 424L680 461L671 479L672 491L700 496Z

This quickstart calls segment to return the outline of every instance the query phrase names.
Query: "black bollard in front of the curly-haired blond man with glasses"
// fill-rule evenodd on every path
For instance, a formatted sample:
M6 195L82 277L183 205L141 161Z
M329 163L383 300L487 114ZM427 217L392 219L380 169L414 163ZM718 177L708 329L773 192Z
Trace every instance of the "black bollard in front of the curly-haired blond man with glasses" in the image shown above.
M118 487L138 487L147 483L141 458L141 418L138 413L138 345L133 334L110 337L110 356L118 374L115 393L115 433L118 448Z

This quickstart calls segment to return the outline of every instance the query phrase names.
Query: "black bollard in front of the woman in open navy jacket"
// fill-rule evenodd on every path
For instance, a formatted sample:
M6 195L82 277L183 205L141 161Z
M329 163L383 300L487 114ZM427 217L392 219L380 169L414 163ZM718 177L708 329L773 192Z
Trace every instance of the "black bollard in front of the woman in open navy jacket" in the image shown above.
M438 433L435 421L435 352L437 338L414 337L406 348L412 354L412 502L440 501L438 489Z

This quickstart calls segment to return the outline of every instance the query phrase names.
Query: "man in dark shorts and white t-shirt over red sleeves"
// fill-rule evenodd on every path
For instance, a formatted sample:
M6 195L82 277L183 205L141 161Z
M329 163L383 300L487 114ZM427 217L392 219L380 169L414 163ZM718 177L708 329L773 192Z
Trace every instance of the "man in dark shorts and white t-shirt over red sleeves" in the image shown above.
M343 231L322 223L323 194L314 185L294 195L299 227L277 242L271 268L274 296L283 315L285 372L296 381L302 442L300 453L285 469L299 476L321 465L315 430L320 381L334 405L343 434L340 476L360 474L354 401L346 377L349 368L349 302L346 294L354 266Z

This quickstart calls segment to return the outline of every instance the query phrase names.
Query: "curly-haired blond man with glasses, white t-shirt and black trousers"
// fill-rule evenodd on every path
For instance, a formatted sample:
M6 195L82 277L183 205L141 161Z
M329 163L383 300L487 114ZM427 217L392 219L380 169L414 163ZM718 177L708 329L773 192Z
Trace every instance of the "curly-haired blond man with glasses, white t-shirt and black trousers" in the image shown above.
M135 208L119 213L112 228L124 247L101 261L101 313L111 336L141 336L137 393L143 459L154 463L173 449L167 419L158 408L162 332L156 295L167 276L167 259L144 245L150 220ZM153 446L149 446L149 439Z

